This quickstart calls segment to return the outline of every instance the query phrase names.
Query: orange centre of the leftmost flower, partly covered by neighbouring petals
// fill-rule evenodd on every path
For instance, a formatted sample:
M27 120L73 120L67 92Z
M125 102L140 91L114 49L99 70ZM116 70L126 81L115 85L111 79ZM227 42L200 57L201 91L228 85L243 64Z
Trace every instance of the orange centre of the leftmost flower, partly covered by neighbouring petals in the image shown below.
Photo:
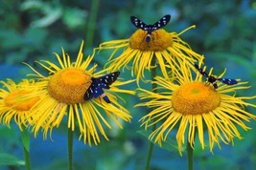
M5 104L17 111L29 111L40 99L39 96L25 99L24 96L29 93L29 91L12 92L5 98Z

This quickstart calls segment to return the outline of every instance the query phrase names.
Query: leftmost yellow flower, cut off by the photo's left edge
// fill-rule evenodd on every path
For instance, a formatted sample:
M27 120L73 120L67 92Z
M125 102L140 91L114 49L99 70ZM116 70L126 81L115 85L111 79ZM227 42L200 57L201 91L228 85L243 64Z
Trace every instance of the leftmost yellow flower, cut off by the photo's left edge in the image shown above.
M0 81L3 88L0 89L0 122L10 127L12 120L22 131L27 127L31 119L28 115L35 103L40 99L36 96L37 89L34 89L35 82L24 79L19 84L15 84L12 79ZM36 91L35 91L36 90ZM30 97L34 93L35 96ZM22 127L23 126L23 127Z

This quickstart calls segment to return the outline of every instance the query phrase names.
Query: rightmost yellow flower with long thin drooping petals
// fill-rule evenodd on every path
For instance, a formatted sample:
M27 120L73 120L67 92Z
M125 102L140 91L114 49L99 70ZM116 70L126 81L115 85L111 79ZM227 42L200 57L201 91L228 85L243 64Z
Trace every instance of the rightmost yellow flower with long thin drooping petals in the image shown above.
M256 105L244 100L256 96L236 96L238 90L249 88L244 86L246 82L236 85L219 82L219 88L215 89L211 83L204 83L198 72L193 78L187 67L182 67L175 75L175 81L160 76L155 78L159 87L157 94L140 89L140 98L149 101L137 106L152 108L150 114L141 118L142 126L147 129L155 123L159 124L150 136L154 142L161 146L169 134L175 134L181 154L184 140L188 140L193 147L197 134L202 149L207 138L212 152L215 143L221 147L220 140L229 143L233 142L233 138L242 138L236 125L244 130L250 129L244 120L255 119L255 116L244 109L246 106L255 108Z

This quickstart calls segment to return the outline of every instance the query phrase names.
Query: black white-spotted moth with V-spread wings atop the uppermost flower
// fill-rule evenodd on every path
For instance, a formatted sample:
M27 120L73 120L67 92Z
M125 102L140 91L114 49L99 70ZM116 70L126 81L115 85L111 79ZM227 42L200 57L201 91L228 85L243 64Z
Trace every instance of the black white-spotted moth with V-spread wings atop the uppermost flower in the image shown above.
M171 19L171 15L167 14L163 16L161 19L159 19L157 22L155 22L153 25L147 25L144 22L142 22L139 18L135 16L130 16L131 23L138 29L148 31L146 36L146 42L151 41L151 32L156 31L164 26L166 26Z

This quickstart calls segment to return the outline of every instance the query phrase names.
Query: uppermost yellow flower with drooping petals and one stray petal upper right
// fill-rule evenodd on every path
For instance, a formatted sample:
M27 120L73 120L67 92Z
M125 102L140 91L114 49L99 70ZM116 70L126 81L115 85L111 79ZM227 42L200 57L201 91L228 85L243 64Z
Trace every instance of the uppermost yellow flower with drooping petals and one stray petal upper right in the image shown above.
M195 28L192 26L187 30ZM159 65L164 76L168 76L168 71L171 72L180 69L181 63L185 61L186 66L193 67L196 60L203 58L202 55L191 50L190 46L180 39L179 35L183 32L166 32L163 29L151 33L151 41L146 41L147 31L138 30L134 32L128 39L112 40L102 43L99 50L114 49L114 52L109 57L106 66L108 69L119 70L120 68L130 67L129 62L132 62L131 74L136 75L137 82L140 78L145 78L145 70L151 70L155 67L152 62L156 59L156 64ZM118 57L114 57L118 50L123 49L124 52Z

